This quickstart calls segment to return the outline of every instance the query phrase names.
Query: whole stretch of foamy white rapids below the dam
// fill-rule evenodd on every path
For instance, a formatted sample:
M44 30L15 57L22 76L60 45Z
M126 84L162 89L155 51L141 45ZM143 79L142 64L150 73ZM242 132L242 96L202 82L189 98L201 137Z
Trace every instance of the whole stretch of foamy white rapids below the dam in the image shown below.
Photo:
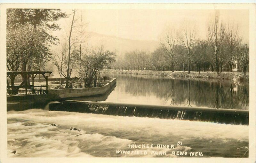
M248 126L185 120L31 109L7 112L7 123L8 150L16 150L16 154L9 152L10 157L176 157L173 150L193 150L190 143L194 141L248 142ZM134 149L166 150L165 156L115 154L129 150L128 144L175 144L178 140L183 146L174 149Z

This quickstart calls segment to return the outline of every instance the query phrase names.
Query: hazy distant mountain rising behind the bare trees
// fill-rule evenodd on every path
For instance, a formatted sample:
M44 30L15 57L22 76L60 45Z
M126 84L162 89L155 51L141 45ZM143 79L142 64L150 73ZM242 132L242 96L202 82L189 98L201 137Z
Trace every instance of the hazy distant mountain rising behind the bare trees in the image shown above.
M131 40L111 35L102 35L95 32L88 33L88 47L97 47L100 46L101 43L104 45L105 50L116 51L118 56L123 56L125 52L132 50L152 52L159 46L159 42L157 41Z

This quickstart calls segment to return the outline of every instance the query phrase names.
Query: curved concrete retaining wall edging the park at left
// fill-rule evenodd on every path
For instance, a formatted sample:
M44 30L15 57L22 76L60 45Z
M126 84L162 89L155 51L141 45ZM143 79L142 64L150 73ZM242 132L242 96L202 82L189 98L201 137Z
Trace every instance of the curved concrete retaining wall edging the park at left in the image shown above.
M115 84L116 78L106 83L104 86L96 88L49 89L48 95L50 96L50 98L53 99L84 96L100 96L107 93Z

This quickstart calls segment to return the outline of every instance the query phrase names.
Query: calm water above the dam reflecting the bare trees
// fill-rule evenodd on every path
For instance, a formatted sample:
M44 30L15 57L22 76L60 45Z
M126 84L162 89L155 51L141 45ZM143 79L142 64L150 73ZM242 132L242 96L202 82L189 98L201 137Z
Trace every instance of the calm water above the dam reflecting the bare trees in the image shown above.
M106 102L228 109L248 109L249 106L249 85L149 75L107 75L116 77L117 84Z

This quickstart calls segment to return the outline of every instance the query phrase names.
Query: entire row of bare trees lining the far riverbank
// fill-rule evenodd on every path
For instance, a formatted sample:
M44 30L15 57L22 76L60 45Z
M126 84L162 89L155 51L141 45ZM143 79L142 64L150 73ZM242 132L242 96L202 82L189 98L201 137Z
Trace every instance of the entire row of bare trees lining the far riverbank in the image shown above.
M249 47L243 43L238 26L224 24L219 13L208 23L207 40L197 38L193 23L183 23L179 31L169 27L162 35L160 46L154 52L131 51L118 57L112 69L168 70L168 71L222 71L232 72L234 64L246 74L249 67Z

